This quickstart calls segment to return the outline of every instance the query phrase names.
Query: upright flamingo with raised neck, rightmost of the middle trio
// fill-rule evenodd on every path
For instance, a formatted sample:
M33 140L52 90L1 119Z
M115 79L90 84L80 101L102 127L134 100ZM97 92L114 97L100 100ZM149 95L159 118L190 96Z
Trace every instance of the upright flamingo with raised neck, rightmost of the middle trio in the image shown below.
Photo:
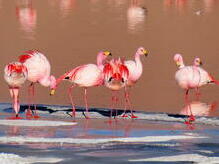
M137 52L134 55L135 60L134 61L133 60L125 61L125 66L129 70L129 77L128 77L128 81L127 81L127 86L128 87L133 86L140 79L140 77L142 75L142 72L143 72L143 65L142 65L140 57L141 56L147 56L147 55L148 55L148 51L145 50L145 48L143 48L143 47L139 47L137 49ZM129 106L131 107L129 93L128 93L126 87L125 87L125 99L126 99L126 103L128 103ZM125 107L123 117L127 117L126 107ZM133 114L132 109L131 109L131 118L137 118L137 116L135 116Z

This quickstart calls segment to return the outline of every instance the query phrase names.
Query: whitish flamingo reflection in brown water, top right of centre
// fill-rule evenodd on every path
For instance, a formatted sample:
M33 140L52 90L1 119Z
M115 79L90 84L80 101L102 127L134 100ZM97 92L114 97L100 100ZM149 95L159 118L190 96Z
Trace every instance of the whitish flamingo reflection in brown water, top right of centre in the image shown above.
M140 30L140 28L143 26L146 12L146 8L141 7L138 0L131 0L131 5L127 11L128 30L130 32L136 32Z

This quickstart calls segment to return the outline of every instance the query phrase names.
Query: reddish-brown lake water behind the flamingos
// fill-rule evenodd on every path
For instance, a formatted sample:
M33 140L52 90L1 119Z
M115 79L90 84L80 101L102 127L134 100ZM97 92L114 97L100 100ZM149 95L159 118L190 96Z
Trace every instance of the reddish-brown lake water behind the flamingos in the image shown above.
M44 52L52 73L59 76L95 63L100 50L132 59L144 46L150 54L142 59L143 76L132 89L134 108L179 113L184 99L174 80L173 55L181 53L186 64L199 56L219 79L218 19L218 0L0 0L0 67L34 48ZM0 101L8 102L3 78L1 84ZM48 88L38 86L37 103L69 104L68 86L65 82L53 97ZM21 102L26 102L26 91ZM218 86L206 86L201 93L201 102L217 104ZM82 94L75 89L77 105L84 105ZM88 94L90 106L109 107L108 89L92 88ZM217 107L213 115L219 115Z

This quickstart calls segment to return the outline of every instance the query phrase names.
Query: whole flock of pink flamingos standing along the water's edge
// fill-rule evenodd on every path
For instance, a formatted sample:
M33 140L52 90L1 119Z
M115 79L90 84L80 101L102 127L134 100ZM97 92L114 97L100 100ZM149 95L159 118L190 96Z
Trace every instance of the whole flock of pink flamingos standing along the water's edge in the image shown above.
M128 117L127 108L130 109L132 119L137 118L134 115L130 102L130 88L137 83L143 73L143 64L141 56L147 56L149 53L144 47L139 47L134 54L133 60L124 60L122 58L111 58L110 51L100 51L97 54L95 64L84 64L77 66L58 78L51 75L51 65L47 57L38 50L25 51L20 55L18 62L11 62L4 68L4 78L9 86L10 96L12 97L12 106L15 111L15 117L11 119L21 119L19 117L19 89L29 81L28 87L28 103L29 107L26 110L27 117L39 118L36 111L35 84L39 83L44 87L50 88L50 95L54 95L58 86L62 81L67 80L71 83L67 89L72 105L72 117L76 116L75 102L73 101L72 92L74 87L81 87L84 89L84 102L86 114L85 118L89 119L89 106L87 101L87 89L90 87L105 86L112 91L112 93L124 89L124 113L122 117ZM219 84L201 65L201 59L196 57L193 65L186 66L183 62L181 54L175 54L173 57L178 70L175 73L175 80L178 85L185 90L185 102L188 100L189 90L195 89L197 97L200 95L199 88L207 84ZM114 96L112 101L115 103ZM31 110L31 104L34 105L34 113ZM195 121L195 116L192 110L188 114L187 123ZM112 117L112 109L110 119Z

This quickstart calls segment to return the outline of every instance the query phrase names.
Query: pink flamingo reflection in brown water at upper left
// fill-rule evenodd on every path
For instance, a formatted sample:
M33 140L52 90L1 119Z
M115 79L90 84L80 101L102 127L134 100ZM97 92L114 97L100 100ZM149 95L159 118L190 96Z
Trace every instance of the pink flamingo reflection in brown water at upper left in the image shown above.
M32 7L32 1L25 0L16 7L16 16L21 29L25 31L29 39L34 39L37 22L37 11Z

